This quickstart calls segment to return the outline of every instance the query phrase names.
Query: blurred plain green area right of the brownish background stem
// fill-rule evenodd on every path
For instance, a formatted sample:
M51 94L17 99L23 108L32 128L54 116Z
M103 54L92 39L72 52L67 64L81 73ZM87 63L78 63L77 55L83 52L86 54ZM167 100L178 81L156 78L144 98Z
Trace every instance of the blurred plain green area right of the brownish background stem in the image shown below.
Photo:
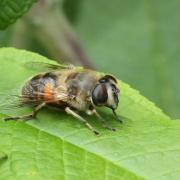
M179 7L179 0L84 0L73 14L97 69L111 71L174 118L180 117Z

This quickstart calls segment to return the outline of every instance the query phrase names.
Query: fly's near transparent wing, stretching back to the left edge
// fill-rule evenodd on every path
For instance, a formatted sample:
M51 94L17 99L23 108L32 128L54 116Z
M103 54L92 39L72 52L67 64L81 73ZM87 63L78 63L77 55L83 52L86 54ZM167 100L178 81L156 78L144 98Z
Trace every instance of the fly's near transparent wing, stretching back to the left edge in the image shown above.
M63 85L58 86L53 91L33 92L30 95L18 95L18 92L19 89L13 89L5 93L0 93L0 110L6 111L28 106L35 107L42 102L56 104L69 100L66 87Z

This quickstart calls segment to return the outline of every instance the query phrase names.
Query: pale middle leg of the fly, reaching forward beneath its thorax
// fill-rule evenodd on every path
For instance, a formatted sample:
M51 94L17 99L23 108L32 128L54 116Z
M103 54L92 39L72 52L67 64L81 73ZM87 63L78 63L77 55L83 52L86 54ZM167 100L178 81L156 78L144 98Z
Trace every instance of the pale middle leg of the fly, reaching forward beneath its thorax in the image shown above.
M67 114L70 114L73 117L75 117L76 119L78 119L79 121L83 122L96 135L99 135L99 132L94 127L92 127L83 117L81 117L79 114L74 112L72 109L70 109L69 107L66 107L65 111L66 111Z

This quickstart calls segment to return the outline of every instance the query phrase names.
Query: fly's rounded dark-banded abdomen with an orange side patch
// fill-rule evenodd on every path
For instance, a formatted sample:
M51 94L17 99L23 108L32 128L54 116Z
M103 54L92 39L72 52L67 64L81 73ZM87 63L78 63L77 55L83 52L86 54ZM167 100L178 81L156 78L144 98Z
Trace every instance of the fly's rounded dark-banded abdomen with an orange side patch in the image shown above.
M56 79L57 76L51 72L34 76L22 88L24 100L27 102L53 101Z

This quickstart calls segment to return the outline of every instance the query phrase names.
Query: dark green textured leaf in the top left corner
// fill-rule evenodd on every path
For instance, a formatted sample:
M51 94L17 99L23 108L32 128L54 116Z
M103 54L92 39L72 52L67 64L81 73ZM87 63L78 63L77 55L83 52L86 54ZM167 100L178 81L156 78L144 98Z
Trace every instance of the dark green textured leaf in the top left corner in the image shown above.
M0 1L0 29L7 28L24 13L26 13L37 0L1 0Z

